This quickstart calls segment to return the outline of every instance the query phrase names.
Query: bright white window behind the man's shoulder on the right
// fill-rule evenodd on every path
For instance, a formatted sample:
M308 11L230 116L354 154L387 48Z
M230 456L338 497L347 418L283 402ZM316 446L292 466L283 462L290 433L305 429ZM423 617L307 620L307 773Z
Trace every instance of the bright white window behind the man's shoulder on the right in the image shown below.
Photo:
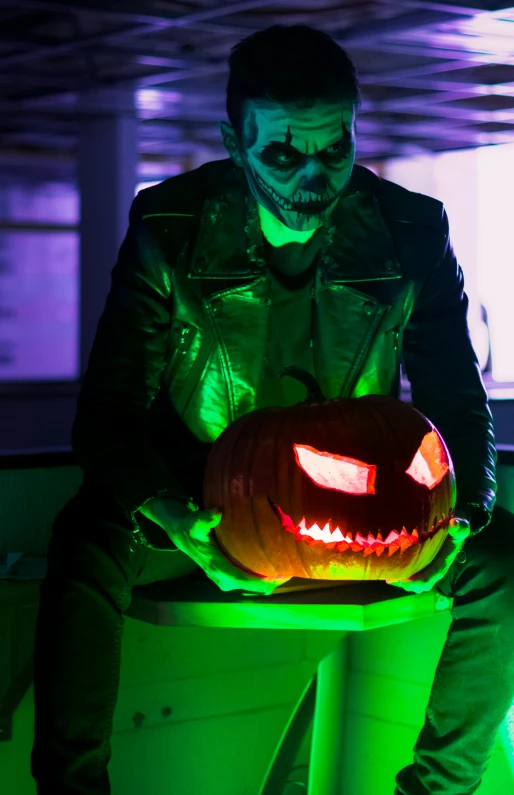
M514 383L512 173L512 144L390 160L380 168L386 179L444 202L469 297L470 336L495 397L510 397L505 386Z

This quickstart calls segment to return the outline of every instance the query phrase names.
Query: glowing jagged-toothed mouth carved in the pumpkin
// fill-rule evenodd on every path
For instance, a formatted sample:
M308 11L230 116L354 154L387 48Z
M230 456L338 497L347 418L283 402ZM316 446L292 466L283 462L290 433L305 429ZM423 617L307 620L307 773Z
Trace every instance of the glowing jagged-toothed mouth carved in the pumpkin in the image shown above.
M436 517L432 527L429 530L422 530L421 533L416 528L408 533L407 529L402 527L400 532L391 530L385 539L380 531L376 536L368 533L367 538L364 538L360 533L355 533L355 535L350 532L342 533L339 527L332 527L330 522L327 522L324 527L320 527L316 523L307 526L306 520L303 518L296 525L279 505L272 500L269 500L269 503L283 529L288 533L293 533L297 541L303 541L309 545L322 545L336 552L344 552L347 549L351 549L352 552L362 552L363 557L371 555L373 552L377 557L380 557L386 549L388 550L388 557L394 555L398 550L400 550L400 555L402 555L409 547L414 545L421 546L428 538L433 538L439 530L447 528L453 516L453 511L449 511L439 520Z

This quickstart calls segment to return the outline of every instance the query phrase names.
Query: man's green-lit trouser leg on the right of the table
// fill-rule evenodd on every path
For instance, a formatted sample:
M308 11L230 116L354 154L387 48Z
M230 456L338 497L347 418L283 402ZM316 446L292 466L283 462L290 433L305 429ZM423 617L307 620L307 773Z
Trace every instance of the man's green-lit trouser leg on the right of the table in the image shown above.
M435 588L453 597L448 630L414 746L394 795L471 795L514 702L514 514L497 506Z

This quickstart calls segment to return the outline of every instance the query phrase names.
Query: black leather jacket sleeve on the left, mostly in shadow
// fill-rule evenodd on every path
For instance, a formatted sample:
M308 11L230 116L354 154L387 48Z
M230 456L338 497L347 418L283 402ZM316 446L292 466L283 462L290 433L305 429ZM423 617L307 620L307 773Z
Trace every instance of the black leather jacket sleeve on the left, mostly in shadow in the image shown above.
M169 272L140 204L136 197L130 209L72 428L79 465L112 493L135 532L135 514L152 497L190 501L147 432L165 363L172 296Z

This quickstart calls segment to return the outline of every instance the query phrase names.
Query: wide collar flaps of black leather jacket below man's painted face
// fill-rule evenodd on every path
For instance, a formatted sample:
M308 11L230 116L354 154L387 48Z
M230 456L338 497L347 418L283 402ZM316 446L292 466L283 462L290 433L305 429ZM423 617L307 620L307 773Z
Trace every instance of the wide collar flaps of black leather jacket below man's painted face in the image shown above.
M229 166L228 185L208 197L189 278L248 279L266 269L257 203L242 169ZM380 180L354 166L350 182L325 229L319 269L323 282L400 278L401 266L380 210Z

